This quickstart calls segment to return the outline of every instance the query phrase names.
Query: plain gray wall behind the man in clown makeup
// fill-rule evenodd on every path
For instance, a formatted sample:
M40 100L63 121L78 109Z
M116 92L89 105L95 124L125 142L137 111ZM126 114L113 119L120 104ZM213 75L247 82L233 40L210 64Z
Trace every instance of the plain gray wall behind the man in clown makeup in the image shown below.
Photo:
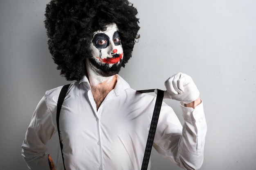
M47 48L49 0L0 0L0 169L26 170L21 144L45 91L67 82ZM141 38L120 75L134 89L161 88L177 72L192 76L208 133L202 170L256 167L256 1L131 0ZM165 100L181 122L178 102ZM55 158L57 138L48 144ZM155 151L152 170L180 170Z

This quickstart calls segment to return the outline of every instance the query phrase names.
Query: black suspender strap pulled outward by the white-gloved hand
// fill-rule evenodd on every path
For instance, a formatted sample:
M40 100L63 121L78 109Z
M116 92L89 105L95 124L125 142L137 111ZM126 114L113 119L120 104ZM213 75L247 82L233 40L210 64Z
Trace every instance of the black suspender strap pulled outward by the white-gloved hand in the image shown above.
M151 150L152 150L152 146L153 146L153 142L154 142L154 138L155 138L155 131L157 129L157 122L158 122L163 98L164 98L164 91L157 89L157 99L155 101L155 108L154 108L154 112L153 112L153 116L152 116L152 120L151 120L151 124L150 124L148 140L147 140L147 144L146 144L146 148L145 148L145 153L144 153L141 170L148 169L148 162L149 162L149 158L150 158L150 154L151 154Z

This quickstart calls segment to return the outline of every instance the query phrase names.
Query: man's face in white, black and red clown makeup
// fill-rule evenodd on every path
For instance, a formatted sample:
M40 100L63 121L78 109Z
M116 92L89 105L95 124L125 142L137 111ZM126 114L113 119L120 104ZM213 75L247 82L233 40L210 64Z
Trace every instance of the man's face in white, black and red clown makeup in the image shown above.
M93 57L88 59L88 64L101 76L112 76L120 71L124 53L117 25L110 24L106 28L106 31L94 33L90 45Z

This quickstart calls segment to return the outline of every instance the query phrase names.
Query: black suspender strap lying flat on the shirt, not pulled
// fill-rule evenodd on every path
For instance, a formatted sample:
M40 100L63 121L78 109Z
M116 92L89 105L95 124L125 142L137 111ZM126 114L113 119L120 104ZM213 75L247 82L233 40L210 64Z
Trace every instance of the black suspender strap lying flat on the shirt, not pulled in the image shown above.
M57 102L57 116L56 116L56 122L57 122L57 128L58 128L58 139L60 140L60 146L61 146L61 156L62 156L62 161L63 161L63 166L64 166L64 170L66 170L65 168L65 164L64 164L64 157L63 157L63 144L62 144L62 139L61 139L61 131L60 131L60 126L59 126L59 118L60 118L60 113L61 113L61 106L63 104L63 101L65 99L65 96L67 94L67 90L68 87L70 86L70 84L68 85L64 85L61 89L60 95L58 96L58 102Z

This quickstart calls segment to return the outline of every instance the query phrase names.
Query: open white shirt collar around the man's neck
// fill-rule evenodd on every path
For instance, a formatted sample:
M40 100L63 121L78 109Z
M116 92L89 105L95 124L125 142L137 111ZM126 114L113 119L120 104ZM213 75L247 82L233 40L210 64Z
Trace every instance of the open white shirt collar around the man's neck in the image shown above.
M121 94L122 91L130 88L130 85L124 80L124 78L122 78L118 74L116 74L116 76L117 76L117 84L115 85L114 92L118 96L119 94ZM88 84L90 88L90 83L87 76L84 75L83 78L81 78L81 80L79 81L79 84L81 83Z

